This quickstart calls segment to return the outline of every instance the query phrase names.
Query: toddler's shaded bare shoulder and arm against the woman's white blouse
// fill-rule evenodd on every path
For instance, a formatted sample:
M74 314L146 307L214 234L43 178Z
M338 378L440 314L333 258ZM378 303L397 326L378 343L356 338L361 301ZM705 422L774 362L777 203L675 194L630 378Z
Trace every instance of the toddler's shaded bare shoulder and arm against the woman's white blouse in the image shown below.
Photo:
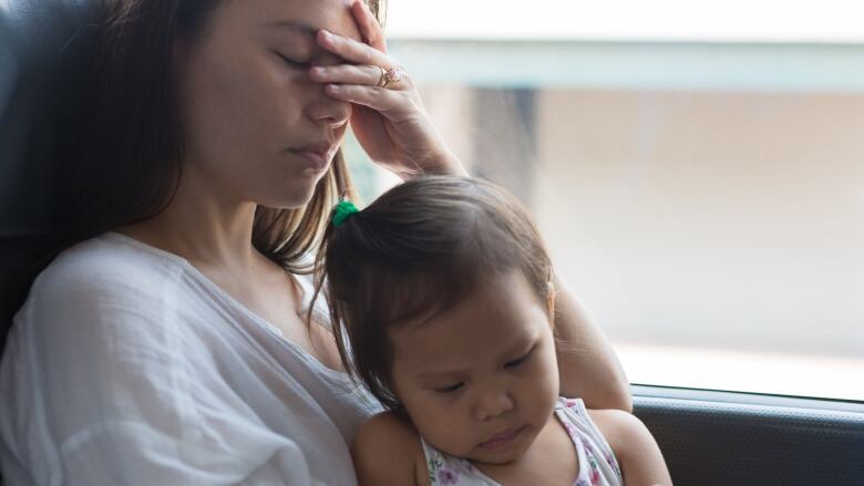
M360 486L429 486L420 437L392 413L378 414L360 425L351 456Z

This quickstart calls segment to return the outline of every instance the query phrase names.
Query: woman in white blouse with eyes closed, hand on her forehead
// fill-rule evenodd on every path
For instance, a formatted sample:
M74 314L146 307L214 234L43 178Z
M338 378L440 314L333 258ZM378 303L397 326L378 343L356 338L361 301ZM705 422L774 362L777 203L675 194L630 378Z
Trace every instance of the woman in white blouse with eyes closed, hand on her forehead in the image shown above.
M53 250L0 366L10 484L356 482L379 410L307 306L309 251L376 163L462 173L371 11L350 0L100 0ZM377 2L372 2L377 11ZM629 410L614 353L563 292L563 390ZM569 372L592 368L588 373ZM580 382L575 376L598 376Z

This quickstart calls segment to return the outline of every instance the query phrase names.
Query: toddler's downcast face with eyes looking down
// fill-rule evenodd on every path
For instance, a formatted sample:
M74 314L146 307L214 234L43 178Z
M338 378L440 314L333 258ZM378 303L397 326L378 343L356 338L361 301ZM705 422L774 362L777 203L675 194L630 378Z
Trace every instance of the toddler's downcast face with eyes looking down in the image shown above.
M531 445L558 396L546 306L514 271L444 314L391 331L394 391L426 442L487 464Z

